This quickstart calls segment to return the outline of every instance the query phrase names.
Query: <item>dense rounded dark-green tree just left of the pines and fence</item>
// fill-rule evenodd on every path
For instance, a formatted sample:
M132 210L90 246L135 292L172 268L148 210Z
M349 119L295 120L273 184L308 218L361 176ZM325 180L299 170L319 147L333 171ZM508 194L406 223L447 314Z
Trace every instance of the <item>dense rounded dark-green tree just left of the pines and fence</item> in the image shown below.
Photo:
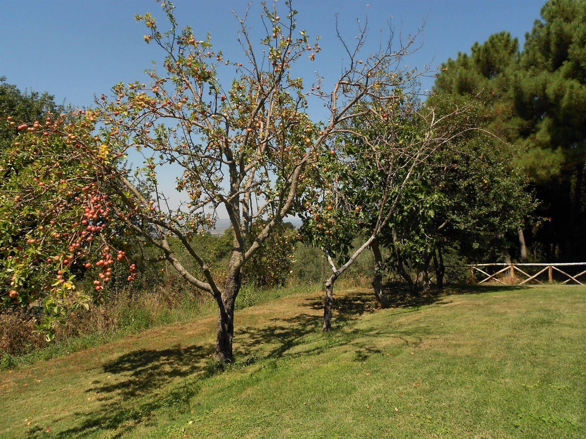
M491 136L469 131L454 148L430 160L418 199L412 200L417 207L406 205L386 236L393 267L406 277L402 265L408 263L417 274L413 290L427 287L432 261L442 286L444 248L457 248L464 262L502 255L506 235L535 208L526 178L511 166L512 158Z

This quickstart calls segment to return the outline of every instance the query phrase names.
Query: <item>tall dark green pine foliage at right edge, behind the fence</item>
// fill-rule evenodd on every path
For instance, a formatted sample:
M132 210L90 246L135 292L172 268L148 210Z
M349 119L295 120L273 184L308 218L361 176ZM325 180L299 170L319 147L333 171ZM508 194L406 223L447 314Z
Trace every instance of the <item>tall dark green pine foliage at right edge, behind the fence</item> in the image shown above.
M586 258L585 47L586 2L548 1L521 52L508 32L492 35L442 64L434 85L481 102L486 129L513 146L545 219L526 228L536 259Z

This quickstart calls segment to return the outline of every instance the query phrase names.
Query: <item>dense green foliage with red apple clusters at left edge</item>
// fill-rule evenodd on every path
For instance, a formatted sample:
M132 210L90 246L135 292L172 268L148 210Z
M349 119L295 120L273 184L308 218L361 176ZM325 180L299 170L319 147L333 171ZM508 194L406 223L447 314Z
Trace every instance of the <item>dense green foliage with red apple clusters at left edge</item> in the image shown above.
M40 326L49 339L67 308L88 307L91 296L99 296L111 264L126 255L105 178L119 158L79 135L95 115L49 111L30 124L12 116L5 121L19 134L0 154L1 306L43 306ZM95 277L91 293L74 283L87 272Z

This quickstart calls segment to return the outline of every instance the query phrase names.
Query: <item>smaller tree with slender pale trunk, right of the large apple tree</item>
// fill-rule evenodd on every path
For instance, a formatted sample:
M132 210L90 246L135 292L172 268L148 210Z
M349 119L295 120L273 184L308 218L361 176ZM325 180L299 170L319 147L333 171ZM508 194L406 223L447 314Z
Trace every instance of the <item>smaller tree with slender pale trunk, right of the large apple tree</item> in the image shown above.
M331 267L323 331L331 329L336 280L364 250L373 246L376 251L378 236L393 229L402 210L427 209L412 201L420 199L420 181L430 170L430 159L461 135L454 123L459 110L437 118L433 111L421 111L417 94L406 91L414 77L408 72L391 77L396 83L377 92L392 98L337 130L331 156L318 163L315 186L306 194L302 231L325 252ZM360 105L356 110L360 112ZM357 238L363 241L354 247ZM388 300L377 282L378 265L373 285L384 306Z

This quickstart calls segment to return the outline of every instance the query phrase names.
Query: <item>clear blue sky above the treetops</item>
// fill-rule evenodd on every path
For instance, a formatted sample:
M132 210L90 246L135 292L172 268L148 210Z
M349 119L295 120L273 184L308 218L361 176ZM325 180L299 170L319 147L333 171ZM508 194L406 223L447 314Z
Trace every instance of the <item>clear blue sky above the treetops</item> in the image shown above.
M179 24L192 26L196 38L205 39L210 32L214 49L222 49L224 59L242 58L236 41L237 22L231 10L243 13L247 1L174 3ZM284 0L277 5L284 11ZM435 70L448 57L468 52L474 42L482 42L502 30L519 37L523 44L524 34L539 18L542 5L541 0L294 0L293 7L299 11L298 29L305 29L312 37L320 35L323 49L314 62L302 60L295 71L310 86L314 71L318 71L325 77L323 90L334 82L343 59L342 46L335 34L335 13L339 13L339 27L349 42L357 33L356 19L364 23L368 13L370 35L364 52L376 51L381 35L388 35L389 20L396 36L417 31L425 20L423 47L406 63L418 68L431 64ZM146 29L134 20L135 14L145 12L162 20L160 6L154 0L2 0L0 76L6 76L9 83L22 90L49 91L57 102L80 107L91 105L94 94L107 93L121 81L148 82L143 72L151 67L151 60L161 60L161 51L144 42ZM254 0L249 23L257 41L261 36L260 12L260 1ZM423 90L431 88L432 78L424 78L422 85ZM310 116L320 119L321 112L319 106L310 110ZM166 180L169 188L175 186L174 179Z

